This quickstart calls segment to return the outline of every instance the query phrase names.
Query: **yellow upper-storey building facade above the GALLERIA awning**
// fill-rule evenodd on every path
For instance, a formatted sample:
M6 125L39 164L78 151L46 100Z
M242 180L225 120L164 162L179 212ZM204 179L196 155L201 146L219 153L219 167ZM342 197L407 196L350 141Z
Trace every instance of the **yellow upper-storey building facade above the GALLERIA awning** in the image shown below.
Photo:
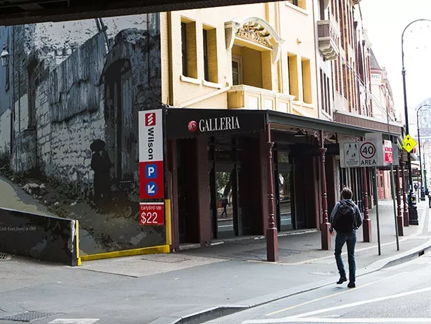
M160 15L162 101L319 118L312 0Z

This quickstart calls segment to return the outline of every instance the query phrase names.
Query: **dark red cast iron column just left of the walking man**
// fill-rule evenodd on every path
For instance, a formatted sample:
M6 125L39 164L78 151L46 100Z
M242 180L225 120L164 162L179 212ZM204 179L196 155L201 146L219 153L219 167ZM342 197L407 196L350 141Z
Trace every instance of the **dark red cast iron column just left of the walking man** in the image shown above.
M320 226L320 231L322 232L322 249L331 249L331 234L329 233L329 228L331 224L329 224L328 219L328 194L326 192L326 169L325 169L325 153L326 148L324 147L324 134L323 131L320 132L320 141L321 148L319 148L320 152L320 173L321 173L321 181L322 181L322 209L323 209L323 217L322 217L322 225Z

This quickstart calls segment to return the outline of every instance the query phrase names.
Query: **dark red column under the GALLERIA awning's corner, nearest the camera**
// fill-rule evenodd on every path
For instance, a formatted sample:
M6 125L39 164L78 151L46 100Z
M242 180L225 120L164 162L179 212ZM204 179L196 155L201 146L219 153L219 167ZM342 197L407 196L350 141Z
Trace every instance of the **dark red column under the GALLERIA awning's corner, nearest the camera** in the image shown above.
M266 230L266 259L278 261L278 231L275 226L274 185L273 185L273 142L271 141L271 124L267 125L268 141L268 229Z

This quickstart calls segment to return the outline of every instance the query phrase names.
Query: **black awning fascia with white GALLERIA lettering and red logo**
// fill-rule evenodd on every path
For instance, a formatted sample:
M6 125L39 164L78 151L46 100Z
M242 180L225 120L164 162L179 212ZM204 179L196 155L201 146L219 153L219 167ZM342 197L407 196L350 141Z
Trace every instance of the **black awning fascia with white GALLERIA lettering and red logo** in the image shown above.
M199 135L245 134L266 129L266 111L245 109L167 108L167 139Z

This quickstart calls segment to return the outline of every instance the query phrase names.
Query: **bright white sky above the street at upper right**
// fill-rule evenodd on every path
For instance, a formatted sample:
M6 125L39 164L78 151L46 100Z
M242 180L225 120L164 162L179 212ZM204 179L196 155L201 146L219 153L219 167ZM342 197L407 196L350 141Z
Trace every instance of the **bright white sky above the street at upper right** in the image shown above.
M431 20L431 0L362 0L360 6L372 50L381 68L388 71L395 109L404 116L402 31L414 20ZM407 105L416 107L431 97L431 21L416 22L405 31L404 65Z

